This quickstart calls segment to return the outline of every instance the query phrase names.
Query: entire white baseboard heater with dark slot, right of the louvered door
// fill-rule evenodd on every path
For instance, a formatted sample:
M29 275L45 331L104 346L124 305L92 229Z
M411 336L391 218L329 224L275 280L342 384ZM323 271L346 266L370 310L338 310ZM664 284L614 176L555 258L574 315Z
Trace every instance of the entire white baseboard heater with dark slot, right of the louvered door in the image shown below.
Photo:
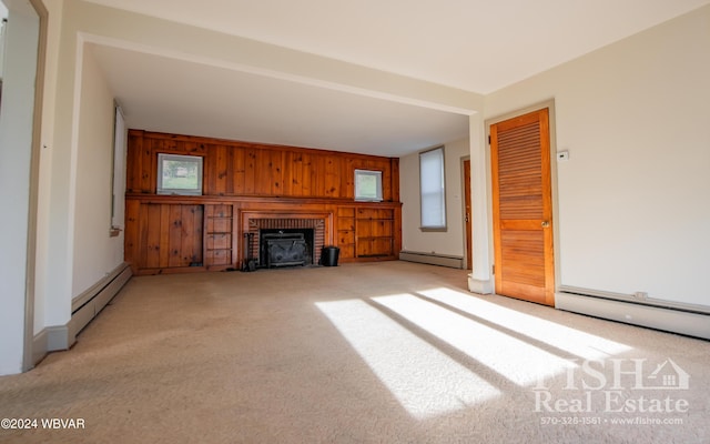
M710 307L561 286L555 307L627 324L710 340Z

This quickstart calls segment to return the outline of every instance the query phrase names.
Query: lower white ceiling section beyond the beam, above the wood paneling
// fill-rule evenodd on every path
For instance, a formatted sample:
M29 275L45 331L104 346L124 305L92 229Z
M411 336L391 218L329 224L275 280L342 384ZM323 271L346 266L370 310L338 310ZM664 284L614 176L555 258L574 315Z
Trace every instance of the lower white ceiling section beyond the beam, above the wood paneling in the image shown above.
M130 128L392 157L468 134L466 115L90 47Z

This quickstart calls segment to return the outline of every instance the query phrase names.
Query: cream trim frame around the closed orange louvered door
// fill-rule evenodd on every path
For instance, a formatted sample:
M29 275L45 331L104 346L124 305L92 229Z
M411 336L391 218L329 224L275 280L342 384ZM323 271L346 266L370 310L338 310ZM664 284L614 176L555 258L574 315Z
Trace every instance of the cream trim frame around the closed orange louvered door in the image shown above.
M510 120L524 114L528 114L530 112L535 112L535 111L539 111L541 109L548 109L548 113L549 113L549 131L550 131L550 185L551 185L551 203L552 203L552 255L554 258L554 262L555 262L555 287L554 287L554 292L557 293L557 289L559 289L560 286L560 282L561 282L561 274L560 274L560 265L559 265L559 260L560 260L560 242L559 242L559 225L560 225L560 219L559 219L559 201L558 201L558 181L557 181L557 128L556 128L556 121L557 121L557 117L556 117L556 112L555 112L555 99L549 99L542 102L537 102L534 103L528 107L524 107L524 108L518 108L514 111L509 111L503 114L498 114L494 118L490 119L486 119L484 122L484 128L485 128L485 135L486 135L486 143L487 143L487 150L486 150L486 173L487 173L487 178L486 178L486 183L488 186L488 190L486 192L486 196L488 199L487 202L487 206L488 206L488 222L490 224L490 232L488 235L488 243L489 243L489 260L490 260L490 264L491 264L491 283L493 283L493 290L495 292L496 290L496 285L495 285L495 265L496 265L496 253L495 253L495 249L494 249L494 212L493 212L493 188L494 188L494 183L493 183L493 161L491 161L491 153L490 153L490 143L488 143L488 141L490 140L490 125L495 124L495 123L499 123L506 120ZM555 304L557 304L557 297L555 297Z

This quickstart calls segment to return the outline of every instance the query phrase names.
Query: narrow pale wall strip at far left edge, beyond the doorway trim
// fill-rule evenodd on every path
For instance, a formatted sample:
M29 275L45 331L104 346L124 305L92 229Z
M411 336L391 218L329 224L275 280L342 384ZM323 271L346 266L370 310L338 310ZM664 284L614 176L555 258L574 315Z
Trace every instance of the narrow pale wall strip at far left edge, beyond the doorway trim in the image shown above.
M39 18L10 11L0 108L0 375L22 370Z

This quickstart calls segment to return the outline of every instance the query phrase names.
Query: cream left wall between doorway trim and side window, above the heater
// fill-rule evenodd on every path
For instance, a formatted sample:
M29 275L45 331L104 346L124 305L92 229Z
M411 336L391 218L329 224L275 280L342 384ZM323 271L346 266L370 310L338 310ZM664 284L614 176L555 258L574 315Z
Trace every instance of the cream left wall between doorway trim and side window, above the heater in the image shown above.
M78 30L74 2L49 2L40 159L36 334L123 261L109 236L113 97Z

